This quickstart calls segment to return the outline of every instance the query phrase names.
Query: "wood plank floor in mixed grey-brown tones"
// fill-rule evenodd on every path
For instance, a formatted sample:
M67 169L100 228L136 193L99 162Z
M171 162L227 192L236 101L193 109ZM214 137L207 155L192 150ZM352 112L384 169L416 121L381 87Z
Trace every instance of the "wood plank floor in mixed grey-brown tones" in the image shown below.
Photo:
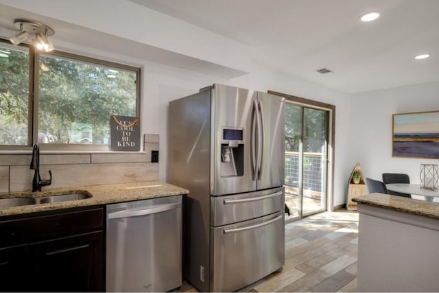
M358 213L339 210L285 224L285 266L241 292L356 292ZM196 292L183 282L182 292Z

